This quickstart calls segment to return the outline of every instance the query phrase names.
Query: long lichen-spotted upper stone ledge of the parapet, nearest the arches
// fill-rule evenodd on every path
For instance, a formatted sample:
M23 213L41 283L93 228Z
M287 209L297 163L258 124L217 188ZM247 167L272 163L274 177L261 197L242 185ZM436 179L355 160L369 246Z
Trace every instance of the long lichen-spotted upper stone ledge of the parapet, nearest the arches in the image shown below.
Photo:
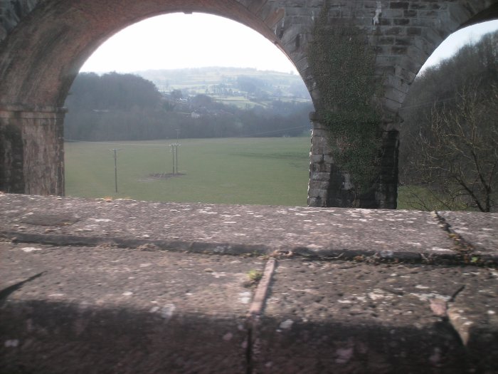
M0 234L46 244L293 254L378 256L420 261L459 258L429 212L381 209L176 204L0 194ZM486 235L496 232L483 231ZM481 237L475 232L475 238ZM477 239L476 239L477 240Z

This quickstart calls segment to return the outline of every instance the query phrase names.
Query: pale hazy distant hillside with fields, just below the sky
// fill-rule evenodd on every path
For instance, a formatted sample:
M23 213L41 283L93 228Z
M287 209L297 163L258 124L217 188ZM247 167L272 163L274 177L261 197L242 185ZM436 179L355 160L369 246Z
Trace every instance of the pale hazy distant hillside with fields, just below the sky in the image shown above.
M184 97L202 93L226 104L239 104L239 107L250 104L246 100L263 106L265 101L272 100L311 100L300 76L277 71L211 67L137 71L136 74L151 80L161 92L181 90Z

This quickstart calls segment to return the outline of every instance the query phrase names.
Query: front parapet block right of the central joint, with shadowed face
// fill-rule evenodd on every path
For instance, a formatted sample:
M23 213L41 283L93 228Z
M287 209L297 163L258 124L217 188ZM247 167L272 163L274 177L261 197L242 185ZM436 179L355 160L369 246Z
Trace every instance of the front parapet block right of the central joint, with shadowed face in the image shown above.
M498 370L492 269L287 259L273 280L254 337L257 373Z

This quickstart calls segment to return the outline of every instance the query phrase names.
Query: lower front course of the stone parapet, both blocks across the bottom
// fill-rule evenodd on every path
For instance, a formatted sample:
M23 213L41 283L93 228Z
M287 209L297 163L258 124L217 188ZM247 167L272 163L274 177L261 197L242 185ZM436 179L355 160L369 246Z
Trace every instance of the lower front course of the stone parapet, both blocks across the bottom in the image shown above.
M494 373L498 272L476 266L0 242L0 373Z

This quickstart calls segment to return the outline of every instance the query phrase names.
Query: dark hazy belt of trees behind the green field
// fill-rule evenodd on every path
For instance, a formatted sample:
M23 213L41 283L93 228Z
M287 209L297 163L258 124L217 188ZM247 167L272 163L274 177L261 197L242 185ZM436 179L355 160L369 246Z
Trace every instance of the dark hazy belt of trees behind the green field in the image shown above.
M68 140L153 140L176 137L281 137L309 130L311 103L274 100L240 109L208 95L159 93L132 74L80 73L65 106Z

